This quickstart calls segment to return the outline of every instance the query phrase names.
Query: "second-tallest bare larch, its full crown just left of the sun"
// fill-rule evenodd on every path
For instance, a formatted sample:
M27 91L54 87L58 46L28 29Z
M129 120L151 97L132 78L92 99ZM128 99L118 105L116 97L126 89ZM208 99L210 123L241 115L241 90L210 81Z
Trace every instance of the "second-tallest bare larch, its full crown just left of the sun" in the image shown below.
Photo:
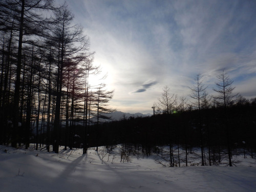
M83 30L78 25L72 25L73 13L67 8L58 9L55 13L58 20L53 32L53 38L57 42L58 62L57 62L57 80L56 80L56 106L53 129L53 151L58 153L59 131L61 126L60 107L63 69L65 60L72 59L73 62L79 62L93 53L89 53L89 38L83 35Z

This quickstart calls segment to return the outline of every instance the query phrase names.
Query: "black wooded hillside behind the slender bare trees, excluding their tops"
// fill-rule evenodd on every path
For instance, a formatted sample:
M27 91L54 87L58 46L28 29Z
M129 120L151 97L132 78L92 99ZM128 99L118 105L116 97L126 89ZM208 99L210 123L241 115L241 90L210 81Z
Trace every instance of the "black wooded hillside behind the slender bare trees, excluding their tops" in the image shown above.
M222 118L222 108L201 109L204 130L204 165L220 165L226 161L225 124ZM230 106L227 109L230 114L230 137L233 141L233 154L246 154L255 158L255 105L245 103ZM170 132L172 133L172 163L170 164L169 135L166 134L166 119L169 118ZM186 110L173 114L157 114L145 118L122 118L119 121L108 121L90 126L91 147L97 145L115 145L122 143L130 151L130 154L149 156L158 154L158 163L165 166L189 166L193 164L191 157L195 158L195 149L201 149L200 131L196 128L195 119L198 118L198 110ZM97 135L98 133L102 133ZM210 141L208 141L208 132ZM97 138L99 142L97 143ZM244 142L243 142L244 141ZM235 143L237 143L235 145ZM183 148L183 150L181 150ZM210 148L210 152L208 151ZM238 149L242 149L241 152ZM237 150L236 150L237 149ZM245 152L244 152L245 149ZM197 150L196 150L197 152ZM181 153L186 153L181 156ZM201 159L201 150L197 154ZM197 161L197 160L193 160ZM202 162L200 161L200 164ZM236 163L232 159L232 163Z

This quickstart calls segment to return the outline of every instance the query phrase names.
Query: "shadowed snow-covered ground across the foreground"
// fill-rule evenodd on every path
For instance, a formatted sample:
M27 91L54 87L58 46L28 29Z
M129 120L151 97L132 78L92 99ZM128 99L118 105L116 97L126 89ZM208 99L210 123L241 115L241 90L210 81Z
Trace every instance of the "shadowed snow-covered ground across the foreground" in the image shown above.
M0 191L256 191L253 159L237 167L163 167L153 156L123 163L119 154L103 161L102 155L93 148L82 155L80 149L54 154L0 145Z

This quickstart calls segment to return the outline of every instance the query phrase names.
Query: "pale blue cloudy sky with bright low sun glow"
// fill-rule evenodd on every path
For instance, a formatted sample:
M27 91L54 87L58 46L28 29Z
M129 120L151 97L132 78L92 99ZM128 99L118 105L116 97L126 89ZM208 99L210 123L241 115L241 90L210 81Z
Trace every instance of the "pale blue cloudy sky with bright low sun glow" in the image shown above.
M65 2L59 0L59 2ZM234 93L256 97L256 1L67 1L90 37L94 64L115 90L110 105L151 113L164 86L189 98L200 74L209 94L224 70ZM95 79L93 81L96 82Z

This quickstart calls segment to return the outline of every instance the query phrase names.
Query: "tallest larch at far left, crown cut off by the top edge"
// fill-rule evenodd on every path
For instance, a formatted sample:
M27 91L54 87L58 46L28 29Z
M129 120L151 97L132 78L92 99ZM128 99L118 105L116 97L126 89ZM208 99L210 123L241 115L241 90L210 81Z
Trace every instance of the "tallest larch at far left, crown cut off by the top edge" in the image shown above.
M30 36L41 35L44 27L51 19L46 14L41 14L42 10L53 10L52 0L9 0L1 1L0 23L1 30L14 30L18 33L17 62L15 72L15 90L13 98L13 130L12 146L17 146L17 129L19 117L20 102L20 76L22 71L22 51L23 44L28 43ZM43 15L43 16L42 16ZM28 38L27 38L28 37Z

